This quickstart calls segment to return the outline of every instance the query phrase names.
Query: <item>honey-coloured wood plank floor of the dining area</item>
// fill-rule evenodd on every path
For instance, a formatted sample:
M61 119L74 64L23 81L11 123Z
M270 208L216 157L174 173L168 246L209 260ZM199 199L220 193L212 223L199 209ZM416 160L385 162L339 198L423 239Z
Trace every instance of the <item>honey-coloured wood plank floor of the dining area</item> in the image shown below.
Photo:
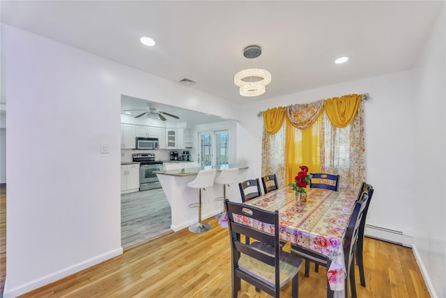
M1 195L1 247L6 195ZM231 254L227 229L215 218L209 232L193 234L187 229L167 232L125 249L123 255L80 271L22 297L231 297ZM358 297L430 297L410 248L366 238L364 266L367 287L359 284ZM1 253L1 290L5 275ZM357 269L356 269L357 270ZM325 268L310 277L300 271L300 297L325 297ZM238 297L270 297L242 281ZM291 297L287 285L282 297Z

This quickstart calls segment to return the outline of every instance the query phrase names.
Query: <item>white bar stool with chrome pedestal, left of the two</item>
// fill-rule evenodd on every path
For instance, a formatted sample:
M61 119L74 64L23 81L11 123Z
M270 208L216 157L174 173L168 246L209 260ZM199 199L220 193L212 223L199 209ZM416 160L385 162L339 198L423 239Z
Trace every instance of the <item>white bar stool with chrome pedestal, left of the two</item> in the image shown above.
M207 223L201 223L201 189L206 191L206 187L213 186L216 172L217 171L215 169L200 170L197 174L197 178L187 184L187 186L190 188L199 188L198 223L195 223L189 227L189 230L192 233L203 233L210 230L210 225Z

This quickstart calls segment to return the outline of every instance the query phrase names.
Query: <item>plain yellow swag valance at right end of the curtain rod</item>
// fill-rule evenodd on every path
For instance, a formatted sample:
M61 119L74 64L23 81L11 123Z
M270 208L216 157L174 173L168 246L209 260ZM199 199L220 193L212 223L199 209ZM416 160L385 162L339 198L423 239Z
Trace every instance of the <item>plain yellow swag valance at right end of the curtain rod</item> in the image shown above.
M360 95L349 94L324 100L323 107L334 126L345 128L355 118L360 102Z

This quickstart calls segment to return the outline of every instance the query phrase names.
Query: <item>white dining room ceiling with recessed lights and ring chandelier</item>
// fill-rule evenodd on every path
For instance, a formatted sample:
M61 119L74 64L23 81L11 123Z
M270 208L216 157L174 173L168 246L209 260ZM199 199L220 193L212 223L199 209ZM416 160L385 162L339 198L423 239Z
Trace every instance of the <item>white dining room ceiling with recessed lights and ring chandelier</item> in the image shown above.
M412 68L443 3L2 0L0 9L3 23L249 103ZM141 36L157 45L142 45ZM233 75L251 66L249 45L261 46L272 82L247 98ZM351 60L333 63L344 55Z

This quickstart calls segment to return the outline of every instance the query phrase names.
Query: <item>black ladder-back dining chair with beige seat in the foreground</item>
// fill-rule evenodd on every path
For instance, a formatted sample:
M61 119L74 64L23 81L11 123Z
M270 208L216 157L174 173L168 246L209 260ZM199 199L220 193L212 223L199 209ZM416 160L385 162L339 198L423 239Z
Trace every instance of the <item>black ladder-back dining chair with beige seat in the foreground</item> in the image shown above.
M302 259L282 251L279 245L279 212L224 200L228 214L229 237L231 239L232 297L238 297L243 279L272 297L280 297L280 290L292 280L291 297L299 295L298 273ZM238 223L234 218L246 216L261 223L274 225L274 234L263 232L249 225ZM240 236L255 241L245 244Z

